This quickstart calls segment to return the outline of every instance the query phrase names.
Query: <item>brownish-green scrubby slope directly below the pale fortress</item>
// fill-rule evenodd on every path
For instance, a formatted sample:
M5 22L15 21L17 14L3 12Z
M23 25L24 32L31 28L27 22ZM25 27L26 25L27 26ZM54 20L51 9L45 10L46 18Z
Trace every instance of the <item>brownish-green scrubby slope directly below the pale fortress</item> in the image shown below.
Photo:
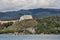
M18 21L15 24L12 25L13 29L16 30L23 30L25 31L26 28L35 28L37 25L37 21L36 20L23 20L23 21ZM25 31L26 32L26 31Z

